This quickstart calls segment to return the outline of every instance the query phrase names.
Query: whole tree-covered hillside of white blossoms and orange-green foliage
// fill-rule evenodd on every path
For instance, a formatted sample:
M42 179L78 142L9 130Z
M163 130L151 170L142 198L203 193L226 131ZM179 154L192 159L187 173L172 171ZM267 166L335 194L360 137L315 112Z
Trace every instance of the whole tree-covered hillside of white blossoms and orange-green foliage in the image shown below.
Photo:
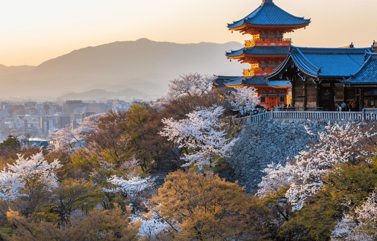
M377 238L371 122L308 130L319 141L285 166L269 165L251 195L211 170L227 165L235 141L221 127L222 115L253 108L238 98L252 100L255 90L220 95L212 82L182 75L157 102L55 130L49 149L9 137L0 144L0 240ZM177 171L157 189L151 174L163 160L175 160Z

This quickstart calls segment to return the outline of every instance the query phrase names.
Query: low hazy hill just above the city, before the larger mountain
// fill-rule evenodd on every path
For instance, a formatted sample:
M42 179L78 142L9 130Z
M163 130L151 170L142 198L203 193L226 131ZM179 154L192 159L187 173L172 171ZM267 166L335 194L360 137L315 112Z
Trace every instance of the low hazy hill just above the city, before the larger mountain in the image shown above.
M60 99L95 99L95 98L121 98L121 97L143 97L143 92L133 89L124 89L117 92L109 92L106 90L96 89L83 93L67 93L60 96Z

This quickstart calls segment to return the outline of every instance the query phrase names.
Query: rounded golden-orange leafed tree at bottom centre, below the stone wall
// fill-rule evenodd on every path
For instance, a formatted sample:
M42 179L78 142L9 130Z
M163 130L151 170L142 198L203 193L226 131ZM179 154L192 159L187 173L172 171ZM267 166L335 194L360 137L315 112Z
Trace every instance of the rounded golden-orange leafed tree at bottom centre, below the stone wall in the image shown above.
M216 174L174 172L152 198L176 240L265 240L269 210ZM178 229L180 230L178 232Z

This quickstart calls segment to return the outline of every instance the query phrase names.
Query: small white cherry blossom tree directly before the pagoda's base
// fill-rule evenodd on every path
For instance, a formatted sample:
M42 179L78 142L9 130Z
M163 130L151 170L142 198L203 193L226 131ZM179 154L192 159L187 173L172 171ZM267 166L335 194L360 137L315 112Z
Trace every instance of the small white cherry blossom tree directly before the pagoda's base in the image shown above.
M253 110L254 107L261 103L258 100L258 95L254 87L242 87L236 88L235 91L231 92L228 98L233 99L234 111L239 111L241 113L246 113L249 110Z

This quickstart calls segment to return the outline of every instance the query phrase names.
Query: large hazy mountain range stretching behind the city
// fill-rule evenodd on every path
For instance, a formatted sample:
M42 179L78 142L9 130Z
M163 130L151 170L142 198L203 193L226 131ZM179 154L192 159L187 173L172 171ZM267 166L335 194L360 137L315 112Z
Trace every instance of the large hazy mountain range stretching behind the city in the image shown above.
M225 51L242 44L156 42L146 38L86 47L45 61L32 69L0 75L0 94L57 95L65 91L85 91L90 86L127 87L136 80L152 83L164 91L169 80L182 73L240 75L242 66L229 62ZM129 88L129 87L127 87Z

